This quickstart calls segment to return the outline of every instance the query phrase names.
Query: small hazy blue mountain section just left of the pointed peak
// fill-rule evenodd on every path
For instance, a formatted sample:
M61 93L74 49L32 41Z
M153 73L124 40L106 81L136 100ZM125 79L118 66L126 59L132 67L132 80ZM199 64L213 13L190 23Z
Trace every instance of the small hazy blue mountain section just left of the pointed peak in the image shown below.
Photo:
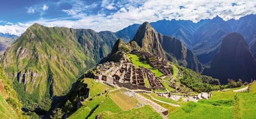
M119 38L119 39L123 39L125 42L129 42L133 39L136 31L138 30L138 28L140 27L141 24L133 24L133 25L129 25L126 28L123 28L120 31L115 32L115 35Z

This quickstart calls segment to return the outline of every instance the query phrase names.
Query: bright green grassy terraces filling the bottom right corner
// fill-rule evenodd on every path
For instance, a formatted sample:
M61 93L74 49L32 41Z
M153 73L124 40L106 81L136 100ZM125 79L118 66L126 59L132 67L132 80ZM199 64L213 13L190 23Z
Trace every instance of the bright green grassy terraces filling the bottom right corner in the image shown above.
M245 87L245 86L243 86ZM197 103L184 102L169 114L169 119L255 119L256 85L251 86L252 92L228 91L212 92L210 99L201 99Z

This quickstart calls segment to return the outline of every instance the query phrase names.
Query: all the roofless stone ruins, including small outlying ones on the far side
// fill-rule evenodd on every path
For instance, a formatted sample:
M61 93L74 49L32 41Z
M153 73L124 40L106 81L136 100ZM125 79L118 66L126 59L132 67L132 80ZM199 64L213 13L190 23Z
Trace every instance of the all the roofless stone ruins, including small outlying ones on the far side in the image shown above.
M142 52L145 53L145 52ZM151 54L145 54L150 56ZM149 58L149 57L146 57ZM151 57L156 58L158 57ZM168 68L162 67L164 74L170 74L171 71ZM164 85L160 82L149 69L134 66L127 57L121 59L120 62L105 62L98 64L93 68L94 79L104 80L110 84L117 85L118 87L125 87L128 89L141 89L151 91L151 89L164 90ZM148 80L150 86L145 85L145 81Z

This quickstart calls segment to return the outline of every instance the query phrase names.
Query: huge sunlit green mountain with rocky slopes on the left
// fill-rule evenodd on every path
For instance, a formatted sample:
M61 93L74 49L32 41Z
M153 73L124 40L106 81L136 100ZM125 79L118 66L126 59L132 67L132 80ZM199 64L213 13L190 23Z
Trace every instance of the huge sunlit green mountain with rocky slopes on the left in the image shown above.
M110 53L115 40L109 31L35 23L7 48L0 62L25 109L47 111L51 99L65 95L86 69Z

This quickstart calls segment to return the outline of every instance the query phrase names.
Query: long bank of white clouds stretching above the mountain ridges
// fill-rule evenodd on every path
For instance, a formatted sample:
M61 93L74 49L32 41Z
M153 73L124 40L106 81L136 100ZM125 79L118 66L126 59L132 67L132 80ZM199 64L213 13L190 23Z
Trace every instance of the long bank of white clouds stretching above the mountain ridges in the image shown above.
M236 5L232 5L232 3ZM91 6L97 7L98 4L85 5L83 2L77 1L71 9L62 10L80 20L40 19L28 22L28 24L37 22L45 26L89 28L95 31L115 32L128 25L144 21L176 19L197 22L202 19L212 19L216 15L224 20L229 20L256 14L256 0L102 0L100 7L108 9L109 6L109 9L115 9L116 12L109 15L104 12L87 15L86 11L90 10ZM184 8L180 9L180 6ZM19 29L19 27L17 28Z

